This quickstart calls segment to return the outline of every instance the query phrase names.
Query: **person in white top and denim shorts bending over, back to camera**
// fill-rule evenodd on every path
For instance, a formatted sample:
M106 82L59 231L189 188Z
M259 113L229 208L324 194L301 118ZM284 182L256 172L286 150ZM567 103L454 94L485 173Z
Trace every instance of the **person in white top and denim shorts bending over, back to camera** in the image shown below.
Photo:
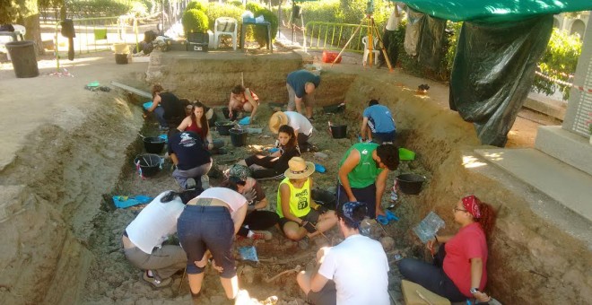
M178 217L177 231L181 247L187 252L187 278L194 304L204 282L208 258L220 274L226 297L233 300L239 292L239 278L232 253L232 240L247 214L247 199L231 181L225 187L211 187L187 203ZM206 251L207 250L207 251Z

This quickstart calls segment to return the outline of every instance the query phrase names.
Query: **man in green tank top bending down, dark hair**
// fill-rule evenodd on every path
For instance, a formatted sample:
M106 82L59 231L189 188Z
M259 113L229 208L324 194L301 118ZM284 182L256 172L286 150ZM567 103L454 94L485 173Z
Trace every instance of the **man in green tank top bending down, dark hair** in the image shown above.
M398 152L394 144L353 144L339 163L337 203L364 202L368 205L368 217L384 215L382 195L388 170L399 166Z

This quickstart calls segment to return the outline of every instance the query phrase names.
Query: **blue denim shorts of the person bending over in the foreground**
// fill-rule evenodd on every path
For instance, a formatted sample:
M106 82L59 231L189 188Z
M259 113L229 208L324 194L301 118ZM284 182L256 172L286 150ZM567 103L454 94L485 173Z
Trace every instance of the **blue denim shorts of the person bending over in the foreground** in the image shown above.
M237 274L232 254L234 222L225 206L187 205L177 222L178 240L187 252L187 274L201 274L204 268L195 262L212 253L217 266L222 266L223 278Z

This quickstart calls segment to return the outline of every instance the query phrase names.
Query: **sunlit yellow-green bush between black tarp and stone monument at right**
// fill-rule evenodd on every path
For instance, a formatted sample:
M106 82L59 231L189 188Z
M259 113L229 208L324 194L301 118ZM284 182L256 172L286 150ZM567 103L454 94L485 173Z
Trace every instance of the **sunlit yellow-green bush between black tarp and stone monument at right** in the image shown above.
M538 70L554 79L568 82L570 75L576 73L581 51L582 42L578 35L570 35L566 31L553 29L549 44L538 62ZM555 91L560 91L563 100L570 98L570 86L553 83L540 76L535 77L533 86L536 92L551 95Z

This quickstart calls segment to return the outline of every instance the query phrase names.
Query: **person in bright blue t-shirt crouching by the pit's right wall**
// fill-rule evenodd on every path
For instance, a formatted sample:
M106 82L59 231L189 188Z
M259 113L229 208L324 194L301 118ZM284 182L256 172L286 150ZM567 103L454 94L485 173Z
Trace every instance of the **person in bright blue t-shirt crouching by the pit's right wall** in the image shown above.
M387 106L379 105L378 100L368 102L361 121L360 135L363 142L366 139L378 144L395 142L395 119Z

